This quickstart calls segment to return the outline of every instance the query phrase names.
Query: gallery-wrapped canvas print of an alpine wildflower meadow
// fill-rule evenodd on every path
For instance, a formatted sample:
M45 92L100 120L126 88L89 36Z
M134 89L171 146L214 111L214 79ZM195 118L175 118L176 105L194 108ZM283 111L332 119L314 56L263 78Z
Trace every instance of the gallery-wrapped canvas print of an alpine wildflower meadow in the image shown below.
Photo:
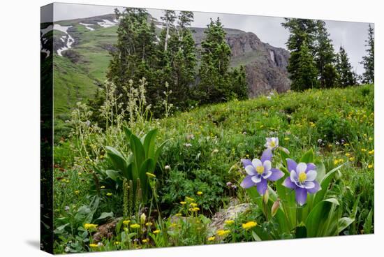
M43 251L374 233L374 24L52 3L40 71Z

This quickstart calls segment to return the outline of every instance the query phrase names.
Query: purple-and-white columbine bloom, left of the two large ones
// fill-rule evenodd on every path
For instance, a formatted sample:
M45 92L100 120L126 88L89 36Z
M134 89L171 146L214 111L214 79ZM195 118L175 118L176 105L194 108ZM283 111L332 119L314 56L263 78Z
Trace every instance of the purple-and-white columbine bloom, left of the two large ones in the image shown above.
M256 186L261 196L267 191L267 180L276 181L283 177L284 173L276 168L272 168L272 150L265 149L261 159L242 159L245 171L248 175L242 181L242 188L248 189Z

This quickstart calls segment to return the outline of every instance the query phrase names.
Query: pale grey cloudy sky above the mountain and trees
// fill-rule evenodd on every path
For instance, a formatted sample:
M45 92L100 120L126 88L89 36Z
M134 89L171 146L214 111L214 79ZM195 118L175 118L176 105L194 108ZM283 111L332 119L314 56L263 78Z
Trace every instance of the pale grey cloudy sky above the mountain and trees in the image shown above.
M81 17L91 17L113 13L115 6L91 6L72 3L54 3L54 21L71 20ZM123 8L119 8L123 10ZM148 12L160 20L163 15L162 10L147 9ZM253 16L253 15L233 15L223 13L202 13L194 12L195 21L193 27L206 27L209 18L220 17L224 27L241 29L253 32L261 41L269 43L275 47L286 48L288 31L281 27L282 17ZM45 17L42 15L42 20ZM333 41L335 50L339 50L342 45L345 47L350 63L357 73L362 73L364 69L359 62L365 55L365 40L367 38L368 23L362 22L339 22L326 20L327 30Z

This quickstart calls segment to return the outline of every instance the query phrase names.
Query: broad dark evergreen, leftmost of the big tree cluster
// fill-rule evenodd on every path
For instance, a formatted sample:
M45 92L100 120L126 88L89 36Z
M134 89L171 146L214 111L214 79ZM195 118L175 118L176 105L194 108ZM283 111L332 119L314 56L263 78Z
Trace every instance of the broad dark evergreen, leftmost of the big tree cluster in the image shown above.
M122 94L122 103L127 99L123 87L133 80L147 80L147 99L154 105L160 101L161 89L158 85L158 48L153 20L149 21L147 10L126 8L124 12L115 10L119 27L117 28L116 51L108 67L107 78L117 86L117 94Z

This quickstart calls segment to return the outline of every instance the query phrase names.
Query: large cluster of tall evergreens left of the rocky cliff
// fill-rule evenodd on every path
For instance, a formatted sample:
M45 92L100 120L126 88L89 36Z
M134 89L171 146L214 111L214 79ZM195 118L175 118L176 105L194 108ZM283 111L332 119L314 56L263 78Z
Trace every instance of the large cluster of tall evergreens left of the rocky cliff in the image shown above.
M231 50L219 18L209 22L201 49L197 49L192 12L165 10L158 23L161 31L145 9L126 8L115 14L119 20L117 44L107 78L121 94L121 103L127 101L124 87L129 81L138 85L142 78L147 82L147 101L157 117L165 111L165 94L178 110L247 98L245 69L230 68Z

